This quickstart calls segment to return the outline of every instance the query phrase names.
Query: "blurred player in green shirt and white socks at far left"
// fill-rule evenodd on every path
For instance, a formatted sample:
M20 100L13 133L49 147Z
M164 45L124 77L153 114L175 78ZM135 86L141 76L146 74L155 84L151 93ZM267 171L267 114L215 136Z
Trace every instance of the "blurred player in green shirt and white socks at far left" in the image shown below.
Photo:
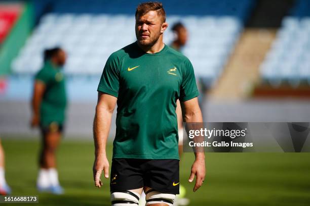
M66 54L61 48L45 50L44 66L35 75L32 97L31 126L40 126L42 133L37 189L55 194L63 193L56 170L56 149L65 121L66 92L61 72L65 61Z

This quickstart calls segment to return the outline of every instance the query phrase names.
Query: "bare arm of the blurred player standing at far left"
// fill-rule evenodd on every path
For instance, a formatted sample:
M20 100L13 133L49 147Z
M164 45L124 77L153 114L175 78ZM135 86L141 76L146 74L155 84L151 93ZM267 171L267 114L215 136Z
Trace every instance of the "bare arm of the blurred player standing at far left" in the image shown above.
M32 96L32 101L31 101L31 106L32 106L32 120L31 120L31 126L37 126L40 122L40 105L41 101L43 98L43 94L45 91L45 83L36 80L34 82L33 86L33 96Z

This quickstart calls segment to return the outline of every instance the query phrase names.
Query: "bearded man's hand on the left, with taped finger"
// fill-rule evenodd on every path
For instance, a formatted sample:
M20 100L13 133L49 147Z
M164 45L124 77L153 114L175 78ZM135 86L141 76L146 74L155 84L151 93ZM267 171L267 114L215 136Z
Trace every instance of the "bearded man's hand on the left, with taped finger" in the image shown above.
M104 172L104 177L109 178L109 161L107 160L106 156L98 156L96 157L94 162L93 175L95 186L98 188L102 186L102 182L100 179L102 170Z

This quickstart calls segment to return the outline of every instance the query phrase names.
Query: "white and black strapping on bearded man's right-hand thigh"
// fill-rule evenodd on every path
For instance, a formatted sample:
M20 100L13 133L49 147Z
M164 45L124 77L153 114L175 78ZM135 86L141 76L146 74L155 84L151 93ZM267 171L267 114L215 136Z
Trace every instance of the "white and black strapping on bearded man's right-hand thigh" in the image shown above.
M161 193L159 191L151 191L146 194L146 205L155 203L165 203L169 206L173 205L175 194Z

